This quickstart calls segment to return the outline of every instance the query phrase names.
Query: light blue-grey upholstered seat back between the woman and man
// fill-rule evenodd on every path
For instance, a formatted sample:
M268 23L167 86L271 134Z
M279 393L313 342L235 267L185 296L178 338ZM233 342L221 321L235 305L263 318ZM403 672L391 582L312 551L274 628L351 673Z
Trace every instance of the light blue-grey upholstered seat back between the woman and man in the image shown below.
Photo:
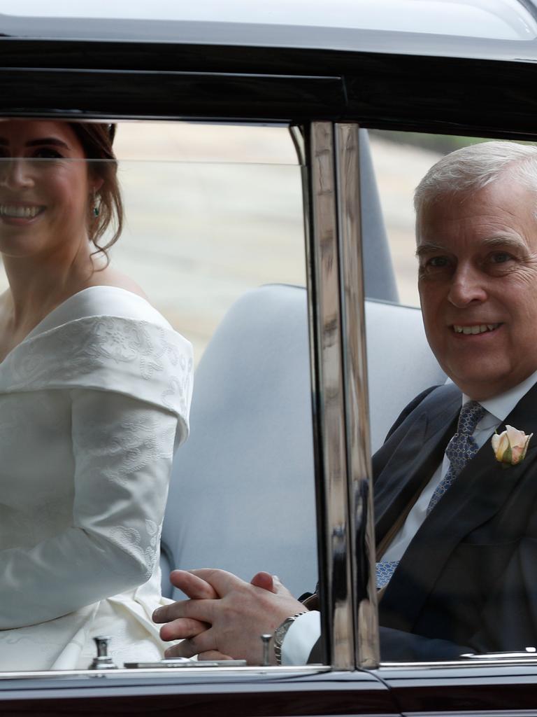
M420 311L367 301L372 445L417 393L442 383ZM316 584L306 291L264 286L229 310L195 376L191 434L175 456L163 526L171 567ZM173 597L178 597L177 591Z

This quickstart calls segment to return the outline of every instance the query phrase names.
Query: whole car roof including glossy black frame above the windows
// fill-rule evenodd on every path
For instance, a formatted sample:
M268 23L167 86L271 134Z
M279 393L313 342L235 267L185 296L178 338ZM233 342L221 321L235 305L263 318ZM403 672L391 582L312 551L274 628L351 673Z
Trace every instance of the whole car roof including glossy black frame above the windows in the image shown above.
M321 3L310 1L319 10ZM246 0L229 0L224 9L216 0L199 0L206 18L211 8L220 14L184 21L158 19L157 10L173 9L171 0L132 0L139 14L150 6L156 19L133 17L132 8L130 18L111 17L127 12L124 0L112 9L102 0L81 0L72 10L59 0L47 9L37 0L6 0L2 9L19 14L0 14L0 115L351 121L365 128L535 138L537 8L530 0L352 0L362 14L349 10L349 17L364 27L350 20L349 27L296 24L311 22L304 2L289 0L287 20L273 14L281 24L263 24L246 22L251 10L241 22L229 20L231 9L246 9ZM324 2L325 14L344 3L350 9L351 0ZM251 5L269 7L261 0ZM283 13L283 0L273 5ZM404 29L393 29L395 19L385 29L388 22L380 22L374 7L386 16L390 8L406 8ZM293 14L296 9L302 13ZM60 11L71 16L54 16ZM403 28L401 13L393 16ZM448 16L459 34L432 32L448 28L447 22L432 27L432 19ZM483 29L475 17L485 16L496 28L511 28L511 35L518 28L516 38L460 34Z

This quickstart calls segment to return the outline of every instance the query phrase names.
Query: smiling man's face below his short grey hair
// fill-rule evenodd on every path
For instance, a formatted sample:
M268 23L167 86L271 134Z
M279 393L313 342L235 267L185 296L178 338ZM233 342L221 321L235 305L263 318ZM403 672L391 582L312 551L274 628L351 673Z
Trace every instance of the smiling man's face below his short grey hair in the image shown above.
M476 400L537 368L536 188L517 181L515 168L503 175L475 192L442 191L427 201L420 185L416 195L427 341L446 374Z

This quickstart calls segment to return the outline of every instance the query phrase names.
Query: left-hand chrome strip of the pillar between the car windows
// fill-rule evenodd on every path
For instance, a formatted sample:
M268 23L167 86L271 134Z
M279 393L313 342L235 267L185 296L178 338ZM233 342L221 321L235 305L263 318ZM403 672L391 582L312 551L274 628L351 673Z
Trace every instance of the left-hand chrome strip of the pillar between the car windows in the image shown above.
M322 630L337 670L354 668L334 125L306 128L306 259Z

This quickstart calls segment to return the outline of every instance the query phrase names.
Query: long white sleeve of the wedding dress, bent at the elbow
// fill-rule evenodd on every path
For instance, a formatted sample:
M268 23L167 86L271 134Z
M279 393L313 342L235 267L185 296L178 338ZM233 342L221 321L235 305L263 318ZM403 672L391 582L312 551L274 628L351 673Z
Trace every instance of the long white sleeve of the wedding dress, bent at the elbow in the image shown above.
M140 585L158 555L177 417L110 391L69 393L72 521L29 549L0 550L3 630Z

